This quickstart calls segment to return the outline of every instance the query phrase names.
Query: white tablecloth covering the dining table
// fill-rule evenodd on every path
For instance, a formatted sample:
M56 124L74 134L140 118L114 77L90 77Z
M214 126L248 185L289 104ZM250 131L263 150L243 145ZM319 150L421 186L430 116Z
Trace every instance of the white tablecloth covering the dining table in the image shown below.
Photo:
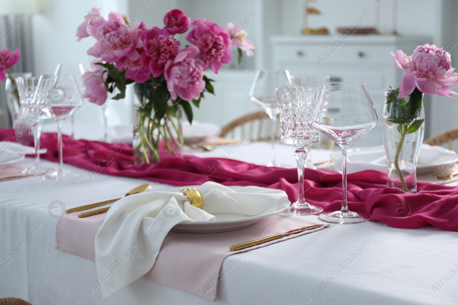
M269 147L244 144L230 157L267 163ZM281 145L281 161L294 165L293 150ZM196 154L216 156L222 151ZM315 153L316 162L328 158L322 151ZM21 162L32 164L31 159ZM39 177L0 182L0 298L14 296L33 305L215 304L144 278L106 302L99 290L91 293L95 263L54 249L57 219L50 216L51 210L57 208L55 203L72 208L116 198L145 182L102 174L91 180L88 171L65 168L82 176L68 182ZM153 189L164 187L151 184ZM269 235L266 229L264 235ZM432 227L396 229L378 221L332 225L250 251L246 257L226 258L227 274L218 284L216 303L457 304L457 246L457 232Z

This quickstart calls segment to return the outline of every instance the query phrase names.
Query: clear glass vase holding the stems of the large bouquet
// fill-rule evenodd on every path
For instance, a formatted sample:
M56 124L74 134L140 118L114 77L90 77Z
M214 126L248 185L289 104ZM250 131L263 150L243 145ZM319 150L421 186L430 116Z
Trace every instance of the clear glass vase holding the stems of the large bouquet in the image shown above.
M134 164L154 164L175 156L182 157L180 108L169 101L164 117L158 119L153 103L155 88L149 83L135 84L134 87L139 100L134 104Z

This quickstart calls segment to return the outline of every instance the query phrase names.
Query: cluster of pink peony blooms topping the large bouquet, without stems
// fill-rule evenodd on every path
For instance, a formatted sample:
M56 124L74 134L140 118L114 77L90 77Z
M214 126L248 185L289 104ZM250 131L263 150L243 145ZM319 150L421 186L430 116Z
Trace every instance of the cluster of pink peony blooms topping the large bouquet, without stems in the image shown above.
M186 40L192 45L180 49L180 42L174 36L190 28ZM163 107L155 109L159 119L169 99L178 100L182 106L185 102L198 106L204 91L213 93L213 80L204 72L210 68L218 73L222 65L232 59L232 48L238 48L239 55L245 51L247 56L252 56L255 48L245 39L246 32L240 26L229 23L225 29L210 20L191 22L177 9L165 14L164 27L148 29L144 22L132 24L127 16L119 13L111 12L105 20L99 9L93 8L77 28L76 37L78 41L84 37L96 39L87 54L96 59L92 66L99 65L102 69L92 68L83 76L84 96L90 102L103 104L106 93L113 93L115 88L120 93L113 99L124 98L125 85L150 82L153 90L167 92ZM105 94L102 84L105 84ZM158 108L157 104L154 106ZM191 121L191 107L184 108Z

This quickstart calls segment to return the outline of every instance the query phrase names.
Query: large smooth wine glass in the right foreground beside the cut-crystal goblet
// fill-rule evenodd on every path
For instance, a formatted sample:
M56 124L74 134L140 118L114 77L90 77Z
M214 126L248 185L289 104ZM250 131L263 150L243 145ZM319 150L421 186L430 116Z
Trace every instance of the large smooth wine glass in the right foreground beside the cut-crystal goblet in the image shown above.
M368 214L350 212L347 206L347 148L377 123L377 114L365 84L324 84L312 123L342 148L342 209L321 214L320 219L334 224L357 224L369 220Z

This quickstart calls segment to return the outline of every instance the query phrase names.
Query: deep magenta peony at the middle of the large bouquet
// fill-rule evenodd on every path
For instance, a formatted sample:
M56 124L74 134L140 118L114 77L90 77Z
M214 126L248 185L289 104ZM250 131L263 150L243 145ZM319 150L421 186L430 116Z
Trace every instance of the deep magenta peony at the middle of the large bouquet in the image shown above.
M180 43L169 36L169 33L158 27L144 31L142 34L143 49L141 63L153 77L164 73L164 66L168 60L173 60L178 54Z

